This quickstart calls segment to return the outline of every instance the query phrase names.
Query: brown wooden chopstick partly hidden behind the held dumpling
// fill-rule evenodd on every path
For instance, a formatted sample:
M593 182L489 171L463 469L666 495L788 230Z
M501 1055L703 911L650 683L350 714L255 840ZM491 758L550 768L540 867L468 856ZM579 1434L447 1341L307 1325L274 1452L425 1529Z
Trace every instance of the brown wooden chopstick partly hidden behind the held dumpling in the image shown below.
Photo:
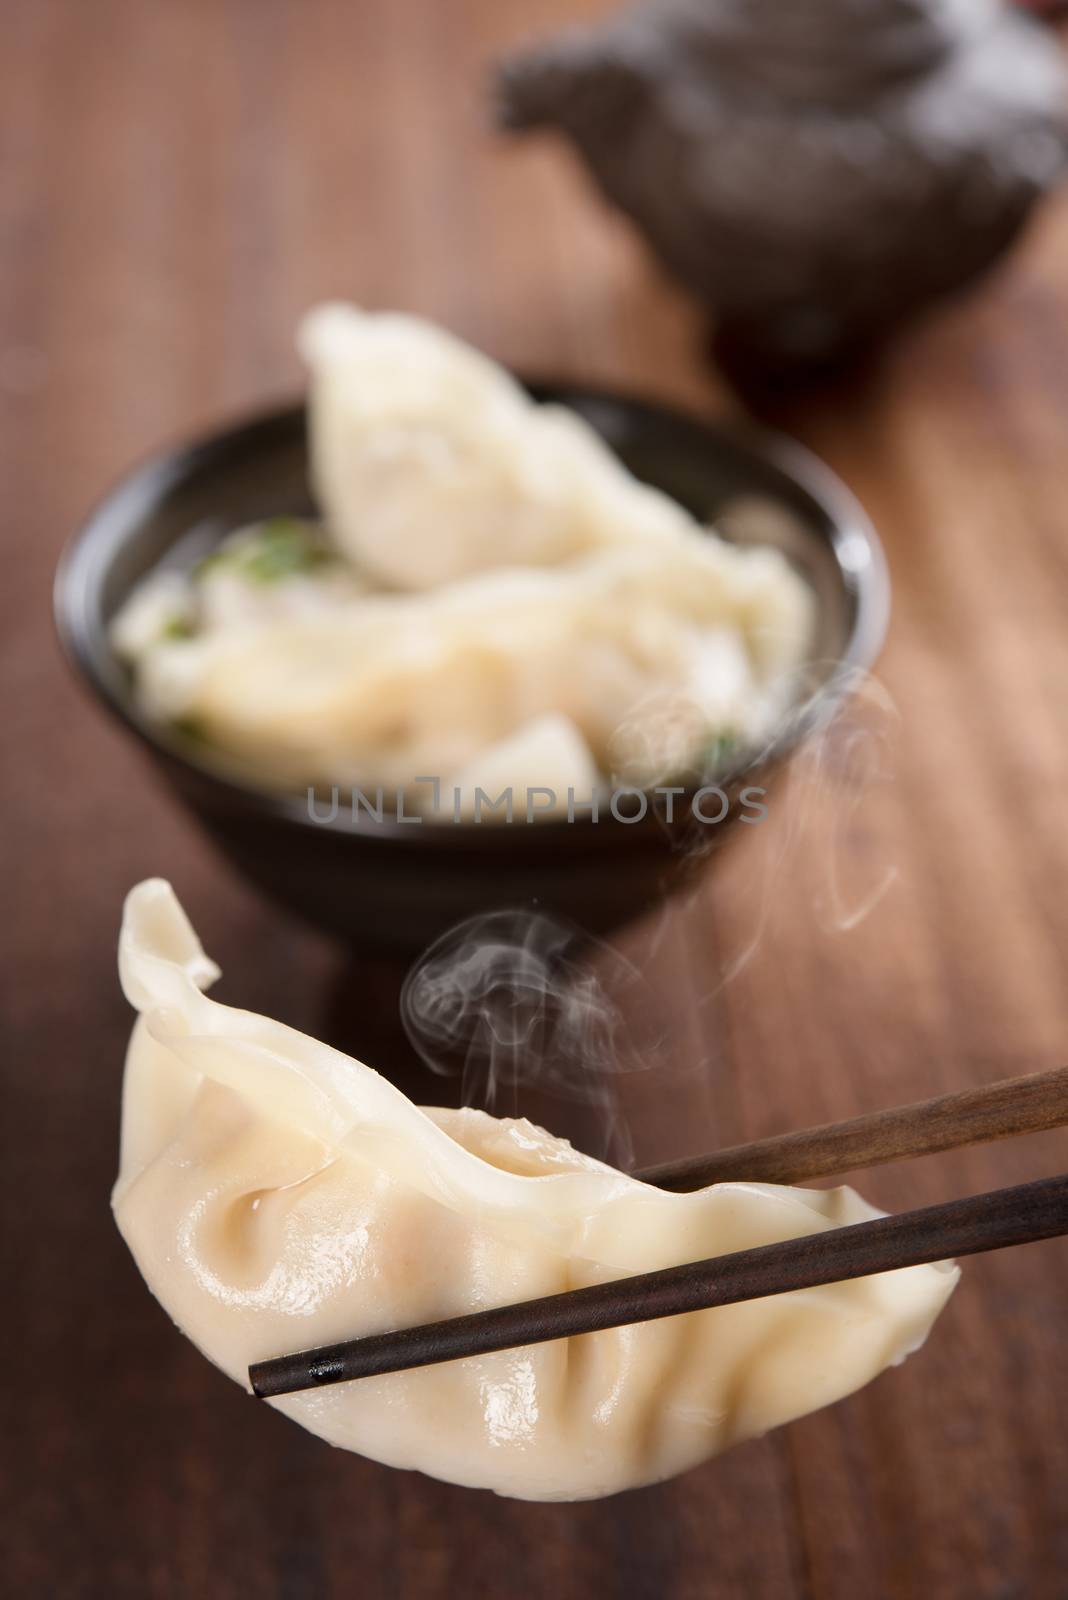
M935 1150L1009 1139L1068 1125L1068 1067L1028 1072L977 1090L876 1110L851 1122L831 1122L782 1133L753 1144L732 1144L711 1155L646 1166L635 1173L657 1189L703 1189L731 1179L796 1184L860 1166L881 1166Z

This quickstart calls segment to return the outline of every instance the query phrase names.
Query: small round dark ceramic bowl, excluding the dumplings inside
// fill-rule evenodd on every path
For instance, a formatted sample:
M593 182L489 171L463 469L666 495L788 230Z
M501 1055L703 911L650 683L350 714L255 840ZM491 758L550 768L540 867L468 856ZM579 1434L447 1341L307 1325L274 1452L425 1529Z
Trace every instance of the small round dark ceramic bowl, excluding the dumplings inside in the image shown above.
M531 384L539 400L572 406L640 478L737 541L775 542L817 597L820 662L782 734L747 770L716 778L734 798L827 715L841 669L867 669L883 642L887 578L878 541L852 496L799 446L702 422L660 406L566 384ZM775 515L747 515L758 501ZM313 821L307 795L254 787L203 749L139 710L109 643L109 622L134 584L165 557L203 554L233 528L280 512L309 512L304 408L272 413L166 451L133 470L88 518L56 574L56 618L75 667L141 739L157 768L221 848L272 899L353 946L412 955L478 912L532 906L608 933L654 906L727 832L699 826L676 802L676 824L601 814L566 821L412 826L344 805ZM181 549L179 549L181 546ZM847 674L846 674L847 675ZM622 810L622 808L620 808ZM719 810L705 800L702 810Z

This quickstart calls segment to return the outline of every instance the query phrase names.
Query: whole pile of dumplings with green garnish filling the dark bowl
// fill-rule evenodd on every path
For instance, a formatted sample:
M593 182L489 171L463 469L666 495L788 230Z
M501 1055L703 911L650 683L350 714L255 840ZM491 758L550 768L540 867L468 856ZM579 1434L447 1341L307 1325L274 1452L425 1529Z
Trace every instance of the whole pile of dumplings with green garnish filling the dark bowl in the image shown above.
M771 736L812 643L782 555L702 530L440 328L325 306L301 342L325 526L272 517L134 590L112 640L152 720L253 782L416 803L500 752L510 787L580 794L590 763L649 787Z

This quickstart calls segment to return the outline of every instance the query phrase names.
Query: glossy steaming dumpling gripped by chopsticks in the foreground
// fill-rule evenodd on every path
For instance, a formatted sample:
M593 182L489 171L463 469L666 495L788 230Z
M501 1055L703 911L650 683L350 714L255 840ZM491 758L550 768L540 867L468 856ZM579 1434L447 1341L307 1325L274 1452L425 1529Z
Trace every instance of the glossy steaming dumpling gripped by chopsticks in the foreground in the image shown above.
M285 1350L819 1232L849 1189L651 1189L526 1122L412 1106L369 1067L209 1000L169 885L128 898L141 1011L114 1208L184 1333L246 1382ZM272 1402L347 1450L524 1499L683 1472L923 1344L951 1264Z

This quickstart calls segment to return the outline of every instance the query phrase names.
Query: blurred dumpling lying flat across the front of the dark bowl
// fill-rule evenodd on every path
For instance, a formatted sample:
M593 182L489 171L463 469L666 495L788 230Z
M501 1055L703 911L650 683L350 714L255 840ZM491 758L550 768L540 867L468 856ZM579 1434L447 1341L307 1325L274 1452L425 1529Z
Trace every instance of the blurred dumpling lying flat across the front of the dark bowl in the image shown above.
M795 693L809 611L766 557L694 541L665 563L635 546L248 619L157 645L139 690L152 715L193 720L278 782L403 789L422 774L473 774L548 715L580 736L576 792L587 755L627 782L656 782L713 728L761 741ZM526 765L515 787L566 790L560 760L552 776Z

